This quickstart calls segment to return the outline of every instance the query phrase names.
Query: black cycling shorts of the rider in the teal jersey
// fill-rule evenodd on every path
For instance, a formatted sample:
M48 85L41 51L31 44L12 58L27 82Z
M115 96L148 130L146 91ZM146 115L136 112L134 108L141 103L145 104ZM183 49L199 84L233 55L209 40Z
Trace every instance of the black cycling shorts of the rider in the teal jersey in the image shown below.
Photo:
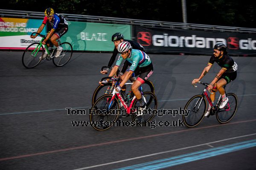
M139 80L143 84L148 79L148 77L150 77L153 74L153 64L150 63L145 67L137 66L134 73L135 73L135 76L140 75L137 78L137 80Z

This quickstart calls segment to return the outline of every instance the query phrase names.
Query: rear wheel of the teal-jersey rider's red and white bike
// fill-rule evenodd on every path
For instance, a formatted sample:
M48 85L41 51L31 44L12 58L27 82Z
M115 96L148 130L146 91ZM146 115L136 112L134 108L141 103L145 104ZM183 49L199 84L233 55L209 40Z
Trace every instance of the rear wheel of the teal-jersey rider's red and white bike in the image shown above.
M153 110L157 110L158 103L157 96L150 91L146 91L143 96L145 97L146 102L144 102L146 103L147 108L143 111L143 115L140 117L136 117L136 113L131 113L131 118L133 121L142 122L143 125L146 125L155 116ZM140 108L140 102L137 99L135 99L132 108L136 109L136 111Z

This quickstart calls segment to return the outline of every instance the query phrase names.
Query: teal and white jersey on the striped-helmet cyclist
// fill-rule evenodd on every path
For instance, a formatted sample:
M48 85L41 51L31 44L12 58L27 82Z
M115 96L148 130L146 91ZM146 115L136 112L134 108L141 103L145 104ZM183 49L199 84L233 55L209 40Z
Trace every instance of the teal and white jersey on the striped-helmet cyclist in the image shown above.
M121 57L121 54L119 54L116 65L120 66L123 60L124 59ZM134 71L137 66L145 67L151 63L150 58L145 54L145 52L136 49L131 50L131 57L126 58L126 60L132 64L129 69L131 71Z

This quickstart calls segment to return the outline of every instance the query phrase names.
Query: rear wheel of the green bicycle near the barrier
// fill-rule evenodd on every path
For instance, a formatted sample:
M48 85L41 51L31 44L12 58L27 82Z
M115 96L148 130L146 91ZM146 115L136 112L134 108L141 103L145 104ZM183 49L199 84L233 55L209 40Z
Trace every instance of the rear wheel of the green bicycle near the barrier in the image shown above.
M52 59L53 64L57 67L67 64L73 54L73 47L69 42L63 42L61 47L63 50L61 51L60 56L57 58L53 57Z

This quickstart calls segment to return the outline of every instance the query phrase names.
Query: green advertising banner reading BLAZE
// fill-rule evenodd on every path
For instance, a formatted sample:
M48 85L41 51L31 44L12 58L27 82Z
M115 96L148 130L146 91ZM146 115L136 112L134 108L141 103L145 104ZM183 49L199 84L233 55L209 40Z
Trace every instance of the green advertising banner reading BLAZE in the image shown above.
M131 40L131 26L105 23L84 23L68 21L68 31L61 37L62 42L70 42L73 50L113 51L111 37L116 32Z

